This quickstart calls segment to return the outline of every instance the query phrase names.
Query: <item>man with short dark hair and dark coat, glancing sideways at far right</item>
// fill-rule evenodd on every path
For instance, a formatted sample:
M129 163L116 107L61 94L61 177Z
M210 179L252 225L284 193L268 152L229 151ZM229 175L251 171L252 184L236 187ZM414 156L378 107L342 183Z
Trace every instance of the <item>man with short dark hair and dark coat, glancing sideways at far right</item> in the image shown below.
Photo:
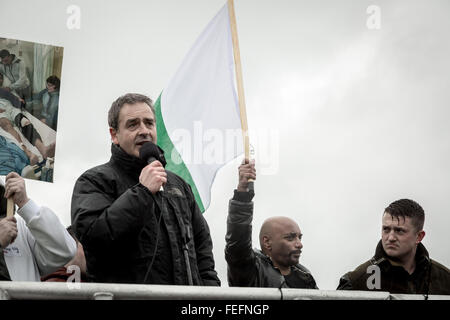
M381 240L374 257L346 273L338 290L450 294L450 270L430 259L421 243L424 221L425 212L415 201L391 203L383 214Z

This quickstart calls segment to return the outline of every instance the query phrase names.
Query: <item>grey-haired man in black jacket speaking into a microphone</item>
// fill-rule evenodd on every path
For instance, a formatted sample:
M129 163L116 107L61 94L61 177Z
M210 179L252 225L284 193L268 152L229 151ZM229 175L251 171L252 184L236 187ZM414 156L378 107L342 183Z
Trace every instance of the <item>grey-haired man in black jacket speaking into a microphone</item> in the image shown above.
M72 195L89 281L219 286L191 187L164 169L152 100L119 97L108 123L111 159L83 173Z

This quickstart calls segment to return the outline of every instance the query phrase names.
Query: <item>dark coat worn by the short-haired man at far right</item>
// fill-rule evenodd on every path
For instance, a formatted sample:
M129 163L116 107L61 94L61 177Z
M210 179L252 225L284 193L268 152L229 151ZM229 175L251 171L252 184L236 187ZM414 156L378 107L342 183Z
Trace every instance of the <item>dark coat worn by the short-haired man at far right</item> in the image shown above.
M375 255L369 261L346 273L339 282L338 290L371 290L375 271L368 269L378 266L380 270L381 291L400 294L450 294L450 271L445 266L431 260L427 249L419 243L416 251L416 269L410 275L403 267L393 266L378 242ZM373 289L377 290L377 289Z

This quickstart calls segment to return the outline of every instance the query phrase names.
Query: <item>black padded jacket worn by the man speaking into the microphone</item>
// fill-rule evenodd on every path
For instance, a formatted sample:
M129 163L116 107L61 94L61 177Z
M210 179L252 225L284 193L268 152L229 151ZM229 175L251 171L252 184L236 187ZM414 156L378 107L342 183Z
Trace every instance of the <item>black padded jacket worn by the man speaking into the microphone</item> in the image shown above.
M153 195L139 183L147 163L114 144L111 152L108 163L78 178L72 196L89 280L187 285L187 242L193 284L219 286L209 228L190 186L166 171L164 191Z

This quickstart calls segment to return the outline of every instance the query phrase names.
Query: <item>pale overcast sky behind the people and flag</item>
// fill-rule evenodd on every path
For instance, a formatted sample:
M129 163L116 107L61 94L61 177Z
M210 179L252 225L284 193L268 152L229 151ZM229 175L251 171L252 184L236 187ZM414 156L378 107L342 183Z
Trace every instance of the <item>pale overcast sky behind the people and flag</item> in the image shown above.
M156 100L225 0L2 1L0 37L64 47L54 183L30 197L70 224L75 180L110 157L107 111L126 92ZM69 5L81 29L69 30ZM368 29L369 5L381 28ZM369 259L383 209L425 209L423 243L450 265L450 3L235 0L251 142L254 246L269 216L304 233L321 289ZM20 19L18 18L20 17ZM223 285L228 200L240 160L217 174L205 213Z

